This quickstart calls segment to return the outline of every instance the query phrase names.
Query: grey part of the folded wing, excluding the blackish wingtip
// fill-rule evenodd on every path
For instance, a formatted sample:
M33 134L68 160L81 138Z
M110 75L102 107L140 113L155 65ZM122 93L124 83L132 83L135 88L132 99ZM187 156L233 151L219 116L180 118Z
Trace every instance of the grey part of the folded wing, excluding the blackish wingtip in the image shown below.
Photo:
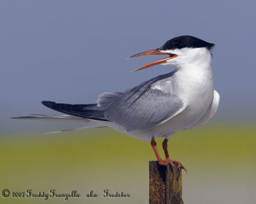
M148 80L138 87L125 92L104 93L99 96L97 105L104 108L106 119L123 126L126 131L157 126L183 110L182 100L151 85L168 75Z

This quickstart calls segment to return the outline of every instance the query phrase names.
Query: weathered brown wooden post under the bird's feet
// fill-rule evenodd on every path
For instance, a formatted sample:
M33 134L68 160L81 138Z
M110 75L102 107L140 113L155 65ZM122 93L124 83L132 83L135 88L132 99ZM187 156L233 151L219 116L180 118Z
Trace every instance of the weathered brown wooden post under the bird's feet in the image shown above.
M149 161L149 203L150 204L183 204L182 174L177 164L159 165Z

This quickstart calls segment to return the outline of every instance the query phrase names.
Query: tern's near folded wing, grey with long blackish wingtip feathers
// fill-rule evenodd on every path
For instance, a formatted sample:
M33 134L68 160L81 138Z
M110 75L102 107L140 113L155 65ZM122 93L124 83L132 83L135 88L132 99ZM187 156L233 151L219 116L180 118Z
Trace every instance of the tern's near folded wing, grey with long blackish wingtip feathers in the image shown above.
M42 103L68 115L115 122L126 131L147 129L162 124L184 110L184 104L178 96L152 88L159 80L165 80L172 75L173 73L168 73L152 78L124 92L103 93L97 104L70 105L52 101Z

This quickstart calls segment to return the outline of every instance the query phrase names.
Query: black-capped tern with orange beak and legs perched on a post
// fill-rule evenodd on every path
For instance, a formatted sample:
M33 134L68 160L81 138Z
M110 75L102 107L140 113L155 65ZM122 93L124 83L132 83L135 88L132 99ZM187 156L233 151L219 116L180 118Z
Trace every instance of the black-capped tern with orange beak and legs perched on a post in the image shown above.
M174 66L174 71L159 75L122 92L104 92L93 104L65 104L42 101L42 104L65 115L29 115L15 119L76 120L83 128L110 127L142 141L151 141L160 165L186 168L170 159L168 140L177 131L207 123L216 113L220 95L214 90L212 48L214 43L193 36L178 36L163 46L132 55L168 55L134 69L156 64ZM162 159L156 138L164 138Z

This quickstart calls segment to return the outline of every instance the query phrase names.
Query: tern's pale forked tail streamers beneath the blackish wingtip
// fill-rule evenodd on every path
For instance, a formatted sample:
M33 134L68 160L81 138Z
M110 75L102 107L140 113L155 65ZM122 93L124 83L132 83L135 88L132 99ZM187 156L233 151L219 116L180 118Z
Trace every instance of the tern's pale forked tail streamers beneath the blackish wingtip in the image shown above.
M12 117L12 119L29 119L29 120L53 120L53 121L71 121L71 122L84 122L84 126L81 128L75 129L64 129L61 131L54 131L51 133L60 133L63 131L72 131L76 129L88 129L88 128L101 128L104 127L97 122L93 122L92 120L84 119L83 117L76 117L73 115L40 115L40 114L31 114L24 117ZM44 133L42 135L46 135L50 133Z

